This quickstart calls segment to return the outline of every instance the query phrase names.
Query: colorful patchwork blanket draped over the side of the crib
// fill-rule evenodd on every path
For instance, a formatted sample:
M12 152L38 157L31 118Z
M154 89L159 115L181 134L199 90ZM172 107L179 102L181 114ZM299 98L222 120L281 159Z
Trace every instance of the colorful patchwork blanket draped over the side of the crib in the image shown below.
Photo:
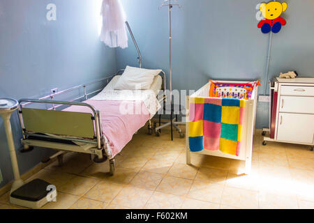
M190 98L190 151L222 151L239 156L245 100Z

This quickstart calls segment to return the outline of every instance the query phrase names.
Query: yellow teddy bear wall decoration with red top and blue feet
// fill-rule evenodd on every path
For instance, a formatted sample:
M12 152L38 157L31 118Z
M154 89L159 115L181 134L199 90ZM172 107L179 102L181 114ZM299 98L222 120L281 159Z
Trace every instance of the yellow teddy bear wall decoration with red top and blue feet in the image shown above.
M281 27L285 26L287 22L281 17L283 12L287 10L287 3L280 3L278 1L270 1L269 3L260 3L260 11L264 17L257 27L261 29L262 33L278 33Z

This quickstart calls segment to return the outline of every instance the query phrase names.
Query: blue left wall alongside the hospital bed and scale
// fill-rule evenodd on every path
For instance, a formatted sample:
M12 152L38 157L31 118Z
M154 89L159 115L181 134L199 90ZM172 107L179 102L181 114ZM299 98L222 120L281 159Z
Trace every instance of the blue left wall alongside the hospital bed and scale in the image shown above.
M48 3L57 5L57 21L46 20ZM115 50L100 43L100 0L1 0L0 98L37 98L116 72ZM12 119L17 149L21 133ZM52 151L17 153L23 174ZM0 118L0 169L13 179L3 121Z

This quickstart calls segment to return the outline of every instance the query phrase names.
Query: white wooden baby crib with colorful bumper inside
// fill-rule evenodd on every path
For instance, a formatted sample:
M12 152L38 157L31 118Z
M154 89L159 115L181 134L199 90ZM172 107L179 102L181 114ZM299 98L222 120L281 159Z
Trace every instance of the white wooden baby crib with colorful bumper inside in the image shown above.
M222 83L222 84L220 84ZM215 91L211 89L213 84L216 84ZM230 84L230 86L228 86ZM250 92L244 86L250 84L252 86ZM237 86L239 85L239 86ZM214 81L211 80L205 84L201 89L193 93L193 95L186 97L186 164L190 164L190 153L213 155L218 157L226 157L235 160L244 160L246 162L245 174L251 172L251 161L252 161L252 148L253 148L253 134L255 131L255 117L256 117L256 106L257 106L257 94L258 94L259 82L238 82L238 81ZM203 149L200 152L191 152L188 140L188 120L190 115L190 98L239 98L246 100L244 107L244 121L242 123L241 130L241 145L239 149L239 155L230 155L221 151L209 151Z

